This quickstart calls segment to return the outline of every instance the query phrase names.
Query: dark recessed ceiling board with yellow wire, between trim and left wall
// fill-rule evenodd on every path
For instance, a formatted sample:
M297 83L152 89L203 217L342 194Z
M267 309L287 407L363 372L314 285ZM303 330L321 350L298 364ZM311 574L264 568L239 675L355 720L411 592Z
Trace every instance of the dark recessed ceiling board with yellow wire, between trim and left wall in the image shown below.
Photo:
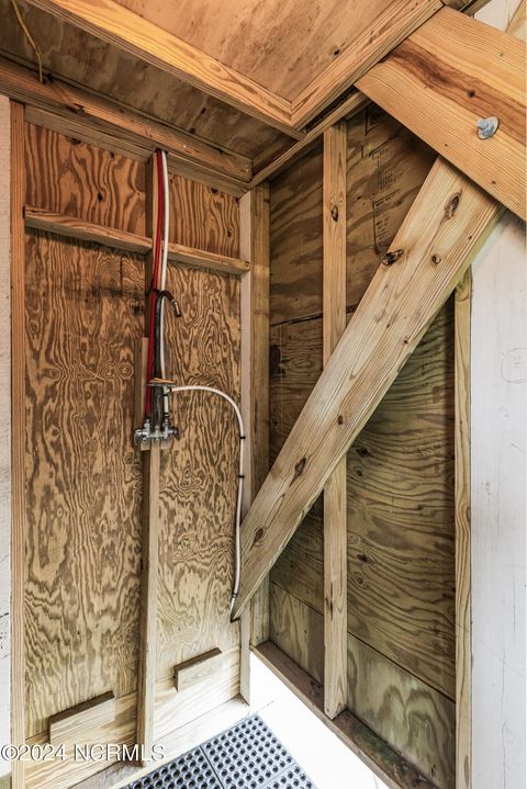
M46 71L250 158L287 137L49 14L19 5L41 48ZM0 0L0 50L35 63L10 0Z

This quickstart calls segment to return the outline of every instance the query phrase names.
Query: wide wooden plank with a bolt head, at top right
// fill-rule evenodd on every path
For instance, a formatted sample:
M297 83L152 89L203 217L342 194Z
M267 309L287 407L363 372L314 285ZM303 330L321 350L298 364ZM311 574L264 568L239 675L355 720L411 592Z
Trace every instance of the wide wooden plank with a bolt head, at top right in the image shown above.
M357 87L525 219L525 69L519 41L444 8ZM480 139L490 116L497 132Z

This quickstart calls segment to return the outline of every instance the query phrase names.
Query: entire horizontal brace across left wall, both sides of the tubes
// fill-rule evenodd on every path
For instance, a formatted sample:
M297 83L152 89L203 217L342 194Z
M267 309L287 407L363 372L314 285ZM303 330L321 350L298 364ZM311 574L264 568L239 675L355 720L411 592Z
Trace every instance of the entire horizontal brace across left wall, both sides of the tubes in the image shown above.
M122 249L125 252L147 255L152 249L152 239L138 236L135 233L119 230L106 225L97 225L93 222L78 219L66 214L56 214L45 208L35 208L26 205L24 208L25 226L37 230L47 230L58 236L75 238L79 241L94 241L112 249ZM250 270L246 260L229 258L225 255L209 252L206 249L186 247L182 244L170 244L168 259L172 262L197 266L212 271L222 271L226 274L240 277Z

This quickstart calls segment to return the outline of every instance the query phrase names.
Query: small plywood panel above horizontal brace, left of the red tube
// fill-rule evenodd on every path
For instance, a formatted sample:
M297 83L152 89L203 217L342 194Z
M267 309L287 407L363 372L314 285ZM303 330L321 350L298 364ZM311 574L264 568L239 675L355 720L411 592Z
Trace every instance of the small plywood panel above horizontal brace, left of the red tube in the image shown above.
M145 165L25 125L26 203L145 235Z

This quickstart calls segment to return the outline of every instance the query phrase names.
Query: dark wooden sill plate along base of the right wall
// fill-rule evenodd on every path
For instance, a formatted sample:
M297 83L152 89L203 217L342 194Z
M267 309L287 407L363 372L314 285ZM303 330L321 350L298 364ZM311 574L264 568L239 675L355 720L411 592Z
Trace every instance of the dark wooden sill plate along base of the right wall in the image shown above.
M298 696L326 726L344 742L390 789L433 789L424 776L374 732L344 710L333 720L324 713L322 685L270 641L256 647L255 654Z

